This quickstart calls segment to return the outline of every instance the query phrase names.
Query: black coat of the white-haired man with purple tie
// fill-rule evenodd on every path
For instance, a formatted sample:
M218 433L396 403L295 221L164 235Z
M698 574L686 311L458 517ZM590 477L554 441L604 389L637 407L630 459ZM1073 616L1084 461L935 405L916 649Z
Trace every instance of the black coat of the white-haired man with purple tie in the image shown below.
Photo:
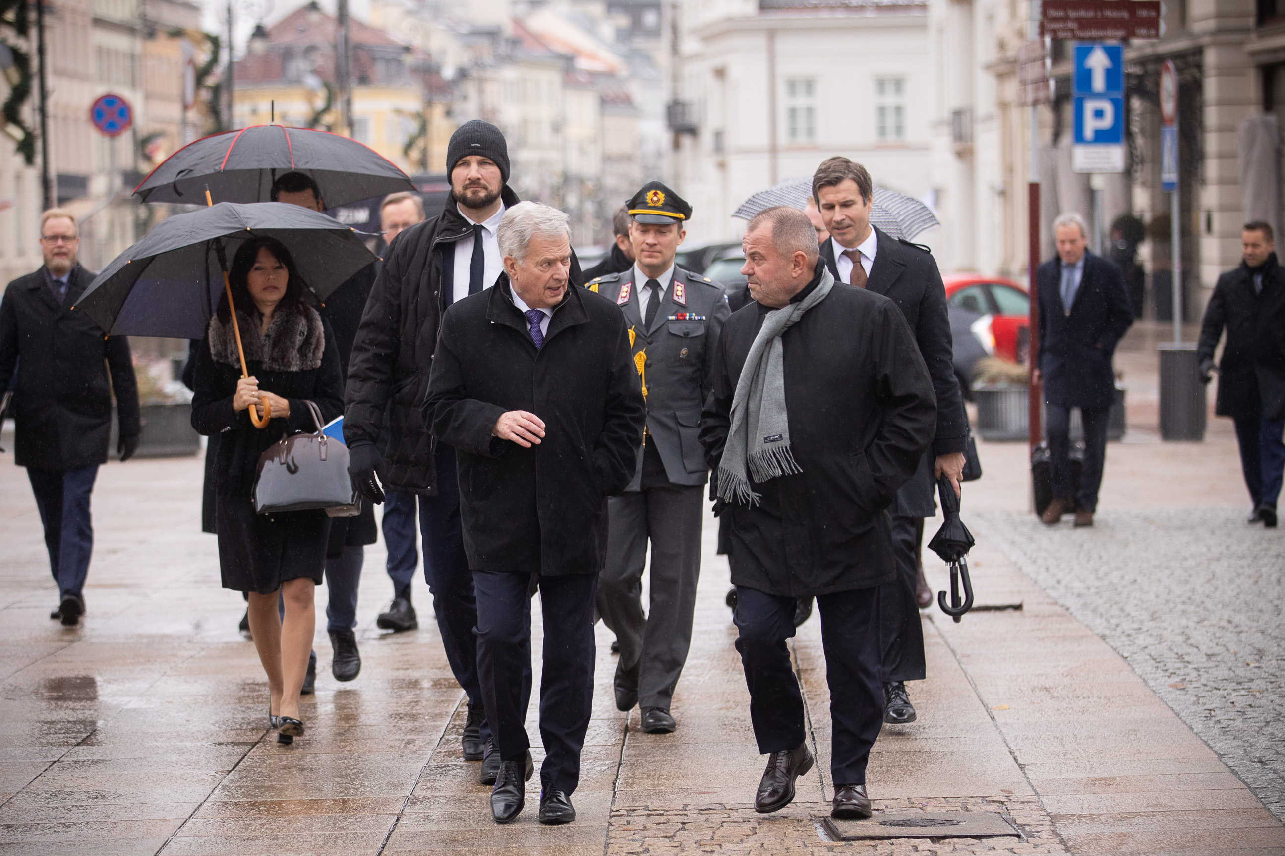
M442 322L424 413L456 449L469 567L598 574L607 498L634 477L646 408L619 308L568 287L536 349L508 276ZM491 435L506 411L545 422L529 449Z

